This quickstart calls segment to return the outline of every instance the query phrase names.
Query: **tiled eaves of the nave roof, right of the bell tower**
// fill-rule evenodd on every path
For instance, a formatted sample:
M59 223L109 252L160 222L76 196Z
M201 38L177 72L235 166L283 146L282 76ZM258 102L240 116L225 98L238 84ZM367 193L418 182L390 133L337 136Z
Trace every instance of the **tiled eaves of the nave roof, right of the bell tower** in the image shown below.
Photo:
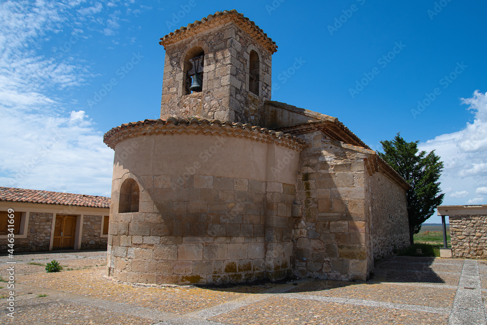
M290 134L303 134L323 129L323 131L326 131L327 134L333 136L335 140L343 141L345 143L350 143L358 147L372 150L355 133L350 131L349 128L347 128L342 122L340 122L337 117L329 115L323 115L323 117L324 118L317 121L298 123L287 127L281 127L277 130L282 132L289 132ZM372 151L375 152L375 150ZM393 179L394 182L396 182L398 185L405 188L406 190L411 187L411 185L409 185L409 183L378 154L375 155L374 159L376 159L378 162L376 166L382 167L382 172L384 172L391 179Z

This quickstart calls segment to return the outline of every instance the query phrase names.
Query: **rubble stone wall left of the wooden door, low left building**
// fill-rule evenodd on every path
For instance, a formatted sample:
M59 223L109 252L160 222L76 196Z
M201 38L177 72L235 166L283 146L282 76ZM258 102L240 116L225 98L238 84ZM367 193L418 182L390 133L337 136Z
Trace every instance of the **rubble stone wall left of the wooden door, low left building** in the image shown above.
M15 252L49 250L53 213L30 212L27 238L15 237ZM7 239L0 239L0 251L7 251Z

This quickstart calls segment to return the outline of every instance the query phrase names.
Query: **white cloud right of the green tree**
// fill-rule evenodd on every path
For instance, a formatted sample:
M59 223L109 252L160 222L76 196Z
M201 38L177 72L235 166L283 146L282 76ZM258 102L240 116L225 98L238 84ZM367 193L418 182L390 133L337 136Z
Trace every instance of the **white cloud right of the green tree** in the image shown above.
M418 145L420 150L435 153L444 162L440 178L444 192L452 192L443 204L469 204L483 202L476 194L487 194L487 95L475 91L470 98L462 98L474 117L473 122L454 133L441 134ZM447 191L450 189L450 191Z

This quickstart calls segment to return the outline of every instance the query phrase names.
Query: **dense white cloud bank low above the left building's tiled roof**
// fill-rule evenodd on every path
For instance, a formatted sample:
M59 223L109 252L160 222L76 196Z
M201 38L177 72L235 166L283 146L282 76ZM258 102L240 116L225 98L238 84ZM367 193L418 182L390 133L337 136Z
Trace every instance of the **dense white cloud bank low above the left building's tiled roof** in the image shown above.
M110 195L113 152L83 111L69 117L11 112L9 118L17 123L0 131L8 139L3 150L11 153L0 158L7 171L1 184Z

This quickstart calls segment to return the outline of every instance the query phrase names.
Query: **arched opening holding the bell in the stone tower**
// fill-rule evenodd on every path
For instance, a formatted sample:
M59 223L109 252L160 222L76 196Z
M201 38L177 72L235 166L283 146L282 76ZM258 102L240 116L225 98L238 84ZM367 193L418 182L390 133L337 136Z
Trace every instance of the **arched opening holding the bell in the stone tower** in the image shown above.
M189 50L184 60L183 95L203 91L205 52L201 47Z

